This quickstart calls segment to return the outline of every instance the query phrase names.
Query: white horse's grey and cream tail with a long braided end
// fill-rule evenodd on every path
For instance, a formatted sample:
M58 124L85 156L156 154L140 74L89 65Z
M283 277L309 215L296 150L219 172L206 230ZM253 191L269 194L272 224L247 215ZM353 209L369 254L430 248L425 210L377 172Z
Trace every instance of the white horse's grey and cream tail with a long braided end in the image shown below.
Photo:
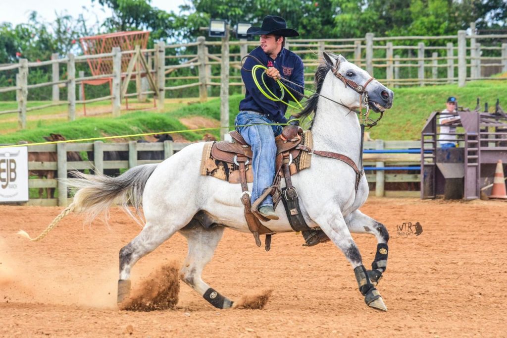
M138 221L137 216L139 216L144 186L157 165L139 165L129 169L118 177L73 172L76 178L66 180L66 182L70 187L79 189L74 196L74 201L36 238L30 238L23 230L20 230L18 234L33 242L40 241L69 213L73 211L76 213L87 213L91 221L98 215L106 212L115 202L124 208L132 218ZM129 203L135 208L135 215L130 211L128 207Z

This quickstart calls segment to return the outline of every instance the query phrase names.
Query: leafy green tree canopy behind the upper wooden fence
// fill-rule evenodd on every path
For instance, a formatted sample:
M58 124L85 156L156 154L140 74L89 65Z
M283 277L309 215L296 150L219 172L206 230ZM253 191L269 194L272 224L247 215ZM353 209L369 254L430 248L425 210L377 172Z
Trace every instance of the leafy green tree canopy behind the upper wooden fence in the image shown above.
M209 20L226 19L260 25L266 15L279 15L301 38L357 38L376 36L455 35L470 22L477 28L505 28L505 0L188 0L180 13L167 13L151 0L90 0L112 10L103 23L87 26L83 15L66 13L43 22L33 12L28 23L0 24L0 63L49 59L51 53L78 51L79 37L122 30L150 30L153 41L194 41L206 35L200 27Z

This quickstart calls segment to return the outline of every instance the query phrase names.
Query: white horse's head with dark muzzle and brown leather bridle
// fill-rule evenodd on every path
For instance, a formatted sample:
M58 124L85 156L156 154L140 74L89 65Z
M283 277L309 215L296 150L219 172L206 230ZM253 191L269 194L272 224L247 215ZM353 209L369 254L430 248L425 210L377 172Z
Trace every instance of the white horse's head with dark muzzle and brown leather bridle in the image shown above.
M366 71L355 64L347 61L343 56L333 53L323 53L325 62L331 67L331 71L338 81L352 89L349 95L340 97L342 103L349 108L360 106L360 99L368 94L368 105L375 112L383 112L392 107L394 93L382 85Z

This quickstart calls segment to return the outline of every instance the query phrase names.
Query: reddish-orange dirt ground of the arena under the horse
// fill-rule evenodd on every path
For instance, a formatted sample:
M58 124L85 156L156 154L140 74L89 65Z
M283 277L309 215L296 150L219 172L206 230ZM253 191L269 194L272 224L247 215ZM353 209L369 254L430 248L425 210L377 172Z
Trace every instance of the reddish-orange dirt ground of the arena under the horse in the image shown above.
M378 285L386 313L366 306L334 245L279 234L267 253L232 230L203 278L232 299L272 289L263 310L216 310L180 283L174 310L119 311L118 251L139 226L112 210L109 226L69 215L41 243L16 235L39 234L60 210L0 206L1 336L505 336L507 202L369 199L361 210L391 235ZM398 235L404 222L423 232ZM375 239L354 238L370 266ZM186 250L175 235L135 265L133 286Z

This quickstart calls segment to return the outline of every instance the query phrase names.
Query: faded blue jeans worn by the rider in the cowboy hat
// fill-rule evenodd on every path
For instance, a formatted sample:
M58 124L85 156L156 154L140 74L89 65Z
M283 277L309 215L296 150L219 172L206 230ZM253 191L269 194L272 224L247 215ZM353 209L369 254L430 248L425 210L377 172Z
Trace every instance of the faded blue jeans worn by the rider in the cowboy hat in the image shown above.
M253 204L266 188L273 184L275 178L275 157L276 144L275 136L282 132L281 125L259 125L261 123L274 123L264 114L241 111L236 116L234 124L236 130L243 139L252 147L252 170L253 170L253 189L251 191L250 201ZM246 127L240 125L253 124ZM273 198L268 195L259 205L273 206Z

